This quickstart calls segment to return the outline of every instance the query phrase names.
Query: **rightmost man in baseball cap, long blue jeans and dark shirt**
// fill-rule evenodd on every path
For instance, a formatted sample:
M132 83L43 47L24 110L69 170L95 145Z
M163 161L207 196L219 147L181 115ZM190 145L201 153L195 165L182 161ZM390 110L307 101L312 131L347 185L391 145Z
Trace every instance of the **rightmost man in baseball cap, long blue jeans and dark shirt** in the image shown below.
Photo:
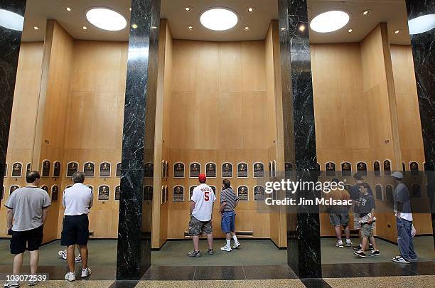
M392 174L394 181L397 183L394 189L394 213L397 223L397 245L399 246L400 255L391 258L393 262L409 263L417 261L417 254L412 242L412 210L411 198L407 186L402 182L402 172L396 171Z

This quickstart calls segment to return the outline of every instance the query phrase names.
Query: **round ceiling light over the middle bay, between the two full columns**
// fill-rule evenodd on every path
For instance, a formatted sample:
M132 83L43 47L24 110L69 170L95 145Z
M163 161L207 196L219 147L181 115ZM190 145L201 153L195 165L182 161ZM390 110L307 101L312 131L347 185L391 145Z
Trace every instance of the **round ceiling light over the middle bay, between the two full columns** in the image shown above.
M200 16L200 22L205 28L215 31L224 31L236 26L237 15L228 9L213 8Z

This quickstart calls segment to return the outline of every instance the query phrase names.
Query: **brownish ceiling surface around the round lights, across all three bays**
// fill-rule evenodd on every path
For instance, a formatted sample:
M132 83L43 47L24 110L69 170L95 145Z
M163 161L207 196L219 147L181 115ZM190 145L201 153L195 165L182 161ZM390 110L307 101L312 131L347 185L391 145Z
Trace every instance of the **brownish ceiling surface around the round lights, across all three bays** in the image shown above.
M269 23L278 18L278 0L161 0L161 18L167 18L173 38L201 41L247 41L264 39ZM129 22L131 0L28 0L23 41L43 41L45 19L56 19L75 39L128 41L129 26L122 31L104 31L90 24L85 13L95 6L118 11ZM71 6L68 12L65 6ZM189 6L189 12L184 7ZM239 23L228 31L210 31L199 23L202 11L210 7L227 7L239 16ZM247 9L253 7L249 13ZM312 43L349 43L361 41L377 23L387 22L393 44L409 44L407 12L404 0L308 0L308 18L333 9L347 11L350 22L339 31L316 33L310 30ZM363 11L370 10L368 16ZM39 30L34 30L38 26ZM83 30L82 26L87 26ZM193 30L187 27L193 26ZM249 26L249 31L244 27ZM352 28L353 32L348 33ZM394 31L400 30L396 34Z

